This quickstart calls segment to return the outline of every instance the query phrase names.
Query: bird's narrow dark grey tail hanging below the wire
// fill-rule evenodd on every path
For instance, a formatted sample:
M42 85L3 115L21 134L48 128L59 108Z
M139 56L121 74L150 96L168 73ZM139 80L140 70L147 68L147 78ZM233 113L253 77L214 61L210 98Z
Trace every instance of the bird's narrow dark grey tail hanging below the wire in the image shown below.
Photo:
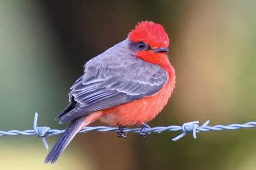
M66 131L61 135L58 141L54 144L49 154L46 156L44 163L50 162L53 164L57 161L60 154L65 150L70 141L82 128L84 118L85 117L79 117L71 121Z

